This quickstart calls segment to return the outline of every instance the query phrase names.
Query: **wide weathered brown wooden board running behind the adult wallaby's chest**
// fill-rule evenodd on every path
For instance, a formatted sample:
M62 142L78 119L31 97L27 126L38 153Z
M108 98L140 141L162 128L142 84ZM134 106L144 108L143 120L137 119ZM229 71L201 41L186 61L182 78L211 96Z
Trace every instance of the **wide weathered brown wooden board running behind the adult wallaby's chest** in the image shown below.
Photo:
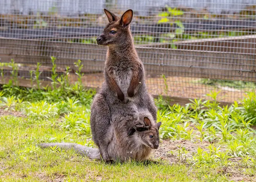
M252 52L218 52L136 47L148 74L202 77L256 82L256 60ZM95 44L0 38L2 62L51 65L51 56L60 67L74 66L81 59L84 71L104 70L106 47Z

